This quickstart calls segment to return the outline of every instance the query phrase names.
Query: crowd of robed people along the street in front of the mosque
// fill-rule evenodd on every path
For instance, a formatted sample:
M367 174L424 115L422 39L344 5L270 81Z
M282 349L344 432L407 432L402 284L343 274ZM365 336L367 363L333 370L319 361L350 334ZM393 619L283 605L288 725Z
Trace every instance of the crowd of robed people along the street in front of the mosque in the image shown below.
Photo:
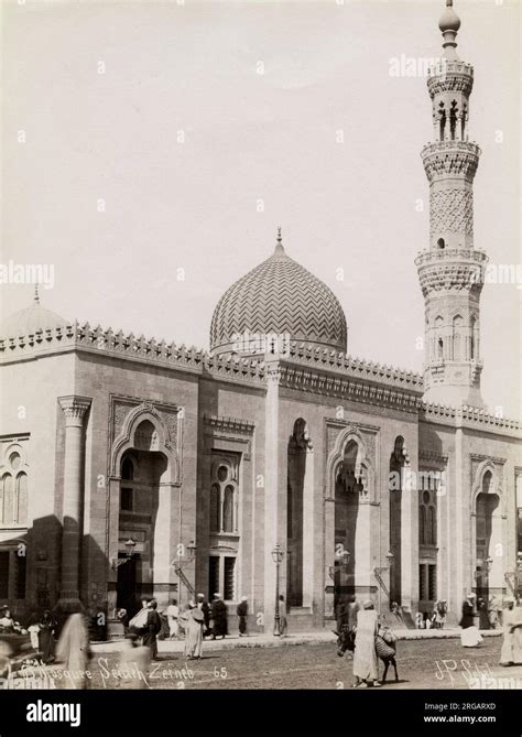
M488 627L503 629L503 640L500 654L502 665L522 663L522 606L516 605L514 597L503 599L504 608L500 611L494 608L494 619L488 616ZM482 641L481 625L486 622L480 616L481 603L474 593L467 594L461 610L459 627L460 641L466 648L477 647ZM248 599L241 597L237 605L239 636L248 633ZM286 629L286 610L284 597L280 599L280 635ZM396 615L400 621L400 607L391 605L391 615ZM446 622L447 605L441 599L435 605L433 626L442 629ZM157 639L184 639L184 657L187 660L200 659L205 638L225 639L229 633L227 606L219 593L208 603L204 594L197 594L183 608L176 599L172 599L160 614L155 599L144 598L142 607L132 619L127 620L124 610L119 611L119 618L124 627L126 644L120 653L120 668L129 672L126 665L138 664L138 671L146 672L151 661L157 659ZM34 619L34 617L33 617ZM352 653L354 686L366 687L381 685L379 682L379 658L384 662L391 659L394 663L396 637L388 626L389 618L380 621L379 615L371 600L358 603L355 596L344 600L337 607L338 633L347 635L347 649ZM73 674L72 687L87 687L86 672L91 658L89 644L89 622L83 614L73 614L65 621L59 638L57 621L52 611L44 610L37 621L33 621L26 629L12 616L8 607L0 608L0 635L29 635L31 643L40 653L43 663L59 662L63 668ZM344 652L344 650L342 650ZM341 654L339 652L339 654ZM394 665L396 668L396 665ZM387 666L388 670L388 666ZM135 668L134 668L135 672ZM123 687L144 687L142 682L131 678Z

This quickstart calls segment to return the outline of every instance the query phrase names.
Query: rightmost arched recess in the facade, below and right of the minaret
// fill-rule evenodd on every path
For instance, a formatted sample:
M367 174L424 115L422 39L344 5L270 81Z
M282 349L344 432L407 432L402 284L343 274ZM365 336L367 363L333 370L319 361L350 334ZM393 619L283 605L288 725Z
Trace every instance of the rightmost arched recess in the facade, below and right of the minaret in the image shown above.
M501 479L491 459L478 466L470 500L471 572L477 594L500 594L503 582L505 499Z

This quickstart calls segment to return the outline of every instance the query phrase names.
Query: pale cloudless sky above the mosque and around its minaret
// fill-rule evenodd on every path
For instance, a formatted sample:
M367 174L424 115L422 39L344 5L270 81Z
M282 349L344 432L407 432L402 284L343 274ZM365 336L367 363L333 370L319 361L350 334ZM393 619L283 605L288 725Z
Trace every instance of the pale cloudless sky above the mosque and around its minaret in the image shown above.
M41 302L66 318L208 348L219 296L281 226L339 297L348 353L422 370L423 68L444 6L3 2L1 263L52 267ZM520 264L520 3L455 9L482 149L475 247ZM392 76L401 58L420 73ZM2 284L2 314L32 293ZM481 297L482 393L505 416L521 414L521 296Z

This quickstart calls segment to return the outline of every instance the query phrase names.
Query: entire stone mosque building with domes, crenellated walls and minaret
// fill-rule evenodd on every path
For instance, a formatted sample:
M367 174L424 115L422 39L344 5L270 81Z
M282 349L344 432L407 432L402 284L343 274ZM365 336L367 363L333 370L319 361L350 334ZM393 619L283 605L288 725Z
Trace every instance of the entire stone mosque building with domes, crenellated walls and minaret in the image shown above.
M110 615L220 592L270 631L278 577L296 631L351 595L412 618L444 598L456 621L467 592L515 590L522 434L480 393L480 149L452 4L422 151L424 376L350 358L338 299L281 231L219 300L208 353L36 295L0 330L0 604Z

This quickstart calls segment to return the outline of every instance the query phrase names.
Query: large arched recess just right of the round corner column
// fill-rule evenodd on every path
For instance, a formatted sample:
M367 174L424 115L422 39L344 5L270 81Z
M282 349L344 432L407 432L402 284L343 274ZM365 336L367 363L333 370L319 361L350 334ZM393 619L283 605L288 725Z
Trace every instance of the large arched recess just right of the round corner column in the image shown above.
M129 412L112 444L109 469L109 559L126 557L129 538L135 543L132 557L112 568L111 604L134 611L143 596L166 603L175 592L171 562L178 541L172 532L180 520L173 487L181 478L168 426L154 407Z

